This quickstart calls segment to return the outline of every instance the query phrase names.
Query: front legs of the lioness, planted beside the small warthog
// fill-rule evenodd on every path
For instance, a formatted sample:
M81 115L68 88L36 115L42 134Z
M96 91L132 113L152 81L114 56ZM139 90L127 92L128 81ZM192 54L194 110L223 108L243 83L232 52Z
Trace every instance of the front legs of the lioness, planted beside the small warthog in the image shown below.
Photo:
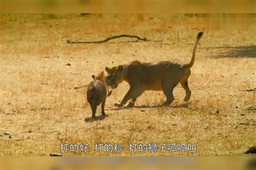
M130 99L132 99L132 105L129 103L129 106L132 107L134 105L134 102L136 100L137 97L139 97L140 95L142 95L144 93L144 89L142 87L130 87L129 91L127 92L127 94L124 96L123 100L120 103L114 103L115 107L123 107L123 105L129 101Z

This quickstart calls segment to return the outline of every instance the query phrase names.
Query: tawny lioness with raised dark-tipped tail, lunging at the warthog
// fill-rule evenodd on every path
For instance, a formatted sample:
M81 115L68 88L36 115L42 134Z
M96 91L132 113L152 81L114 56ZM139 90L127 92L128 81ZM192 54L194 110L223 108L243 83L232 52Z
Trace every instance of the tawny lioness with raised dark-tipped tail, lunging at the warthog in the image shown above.
M127 101L131 100L127 107L132 107L136 98L144 93L145 90L163 90L166 101L163 105L169 105L174 100L172 91L178 83L186 91L184 101L188 101L191 96L191 90L188 88L187 79L190 76L190 68L194 64L196 49L199 39L203 32L199 32L194 45L193 55L190 63L181 64L177 61L159 61L159 62L140 62L132 61L125 65L116 67L106 67L109 74L106 81L112 88L117 88L118 84L126 81L130 84L130 89L120 103L114 103L116 107L122 107Z

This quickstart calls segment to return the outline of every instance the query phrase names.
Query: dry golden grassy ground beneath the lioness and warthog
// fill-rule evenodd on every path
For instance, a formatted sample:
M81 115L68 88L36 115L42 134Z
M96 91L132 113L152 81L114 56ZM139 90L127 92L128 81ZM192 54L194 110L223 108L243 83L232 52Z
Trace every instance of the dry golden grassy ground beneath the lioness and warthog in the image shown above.
M255 146L255 17L184 15L1 15L0 155L49 155L61 143L87 143L86 153L64 155L241 155ZM179 42L177 39L179 32ZM136 107L117 109L129 89L125 82L107 98L107 117L91 116L84 89L92 74L140 60L189 62L192 96L174 89L169 107L162 91L146 91ZM66 40L103 40L67 44ZM254 37L254 38L253 38ZM70 63L70 66L67 64ZM100 116L98 107L96 116ZM95 143L122 143L119 153L95 153ZM196 152L130 153L129 143L196 143Z

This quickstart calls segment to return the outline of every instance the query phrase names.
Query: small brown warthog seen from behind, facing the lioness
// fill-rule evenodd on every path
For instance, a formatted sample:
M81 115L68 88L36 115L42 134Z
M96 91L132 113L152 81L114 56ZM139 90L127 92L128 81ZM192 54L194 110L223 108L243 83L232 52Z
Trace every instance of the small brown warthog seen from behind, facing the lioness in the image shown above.
M105 115L104 106L106 102L106 97L110 96L112 91L109 91L109 87L105 81L106 77L104 72L100 72L97 76L92 75L93 81L89 85L75 87L75 89L86 87L87 88L87 102L89 102L92 109L92 118L95 118L97 106L102 103L102 115Z

